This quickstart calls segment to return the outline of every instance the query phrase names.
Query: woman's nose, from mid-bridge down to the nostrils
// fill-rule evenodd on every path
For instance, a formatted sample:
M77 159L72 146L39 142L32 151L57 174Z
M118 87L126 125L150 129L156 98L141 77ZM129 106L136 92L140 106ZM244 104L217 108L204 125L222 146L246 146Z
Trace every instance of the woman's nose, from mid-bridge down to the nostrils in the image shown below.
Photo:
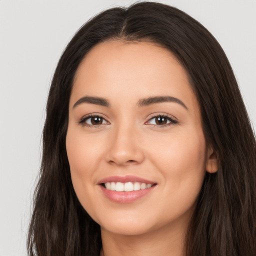
M109 146L106 161L117 165L137 164L143 161L144 154L138 131L134 127L117 127L108 137Z

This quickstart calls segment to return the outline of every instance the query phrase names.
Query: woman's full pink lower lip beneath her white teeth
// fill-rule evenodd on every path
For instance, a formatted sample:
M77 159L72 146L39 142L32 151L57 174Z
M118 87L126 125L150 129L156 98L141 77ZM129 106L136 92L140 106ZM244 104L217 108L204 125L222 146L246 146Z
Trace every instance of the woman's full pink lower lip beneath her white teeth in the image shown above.
M101 191L103 194L110 199L111 201L114 202L120 202L120 203L127 203L127 202L132 202L137 200L138 198L150 193L156 185L153 185L149 188L145 189L140 189L140 190L135 190L135 191L112 191L109 189L104 188L102 185L99 185Z

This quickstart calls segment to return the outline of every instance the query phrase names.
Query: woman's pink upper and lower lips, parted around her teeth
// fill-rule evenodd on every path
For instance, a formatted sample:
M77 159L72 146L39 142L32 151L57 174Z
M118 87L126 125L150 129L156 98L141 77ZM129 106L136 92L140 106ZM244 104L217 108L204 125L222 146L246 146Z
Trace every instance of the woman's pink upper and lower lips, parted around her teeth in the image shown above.
M141 182L146 184L155 184L149 188L140 189L140 190L133 190L133 191L112 191L109 189L106 189L101 184L106 182ZM138 176L133 175L126 175L126 176L109 176L105 177L98 181L98 186L103 192L103 194L111 201L118 202L118 203L129 203L132 201L135 201L148 193L152 192L154 188L156 187L157 183L151 180L147 180Z

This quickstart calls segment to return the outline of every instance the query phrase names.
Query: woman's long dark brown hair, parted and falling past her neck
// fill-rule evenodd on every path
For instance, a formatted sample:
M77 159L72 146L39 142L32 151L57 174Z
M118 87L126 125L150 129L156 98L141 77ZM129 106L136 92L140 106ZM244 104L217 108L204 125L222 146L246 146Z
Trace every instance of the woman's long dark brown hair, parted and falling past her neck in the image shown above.
M217 154L206 172L186 237L187 256L252 256L256 251L256 145L225 53L199 22L155 2L107 9L73 36L57 64L47 100L43 152L28 231L29 255L98 256L100 228L79 203L65 148L68 103L77 67L97 43L149 40L187 71L203 131Z

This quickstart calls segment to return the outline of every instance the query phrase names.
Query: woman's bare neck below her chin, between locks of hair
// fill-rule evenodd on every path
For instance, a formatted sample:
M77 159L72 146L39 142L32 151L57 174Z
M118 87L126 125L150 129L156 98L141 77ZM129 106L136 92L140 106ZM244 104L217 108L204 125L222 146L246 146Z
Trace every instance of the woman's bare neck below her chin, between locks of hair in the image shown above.
M143 234L124 235L101 228L100 256L183 256L184 230L165 226Z

